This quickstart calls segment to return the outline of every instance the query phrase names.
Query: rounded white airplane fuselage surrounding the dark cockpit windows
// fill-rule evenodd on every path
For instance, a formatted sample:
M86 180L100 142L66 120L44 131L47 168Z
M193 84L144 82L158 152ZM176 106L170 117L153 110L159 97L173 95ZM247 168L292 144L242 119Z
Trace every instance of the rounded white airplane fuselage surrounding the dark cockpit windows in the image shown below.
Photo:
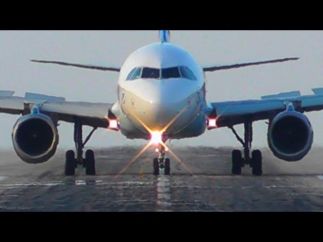
M161 70L189 68L195 79L163 78ZM160 70L159 78L129 80L136 68ZM181 69L179 69L181 70ZM163 74L164 75L164 74ZM204 133L206 116L205 76L194 57L171 43L154 43L133 52L121 68L118 102L112 112L118 117L120 130L129 139L149 139L150 130L160 131L181 112L165 132L166 139L196 137ZM184 110L184 111L183 111Z

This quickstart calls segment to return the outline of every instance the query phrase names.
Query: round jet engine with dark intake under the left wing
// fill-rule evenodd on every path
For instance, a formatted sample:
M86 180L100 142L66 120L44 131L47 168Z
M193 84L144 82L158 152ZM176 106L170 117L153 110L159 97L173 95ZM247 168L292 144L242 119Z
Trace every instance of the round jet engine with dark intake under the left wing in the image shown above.
M17 120L12 141L17 155L23 161L38 164L46 162L55 154L59 134L50 117L32 113Z

